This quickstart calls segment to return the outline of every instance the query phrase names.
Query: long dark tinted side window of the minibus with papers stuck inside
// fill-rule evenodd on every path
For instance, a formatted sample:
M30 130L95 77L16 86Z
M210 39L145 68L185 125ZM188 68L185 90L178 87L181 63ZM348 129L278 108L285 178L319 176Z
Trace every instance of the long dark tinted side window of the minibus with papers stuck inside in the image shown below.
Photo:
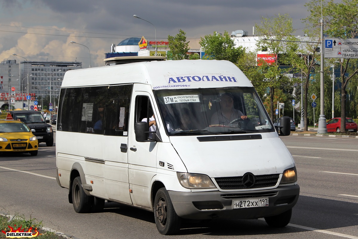
M61 89L57 130L123 135L131 93L132 85Z

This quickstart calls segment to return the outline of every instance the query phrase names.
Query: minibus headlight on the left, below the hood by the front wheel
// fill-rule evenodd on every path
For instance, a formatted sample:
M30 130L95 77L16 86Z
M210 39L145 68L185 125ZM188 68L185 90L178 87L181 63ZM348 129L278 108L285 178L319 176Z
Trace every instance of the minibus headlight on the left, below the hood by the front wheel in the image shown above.
M190 189L205 189L216 188L214 183L207 175L195 174L195 173L180 173L177 172L180 184L185 188Z

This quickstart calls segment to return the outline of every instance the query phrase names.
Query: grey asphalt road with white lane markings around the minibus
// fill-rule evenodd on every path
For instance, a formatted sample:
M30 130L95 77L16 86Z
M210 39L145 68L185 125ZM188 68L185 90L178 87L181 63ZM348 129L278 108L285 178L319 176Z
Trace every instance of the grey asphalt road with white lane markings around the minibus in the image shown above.
M153 213L106 202L105 211L77 214L55 180L55 147L38 156L0 158L0 211L43 220L80 239L99 238L354 238L358 239L358 139L281 137L297 164L301 193L291 223L273 229L263 220L187 223L179 235L160 235Z

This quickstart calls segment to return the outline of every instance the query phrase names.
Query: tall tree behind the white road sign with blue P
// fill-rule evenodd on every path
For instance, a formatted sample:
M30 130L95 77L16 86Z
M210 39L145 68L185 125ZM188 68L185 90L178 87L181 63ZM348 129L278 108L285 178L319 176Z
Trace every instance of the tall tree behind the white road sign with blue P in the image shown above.
M309 19L320 19L323 16L324 33L327 37L333 38L356 38L358 37L358 0L342 0L340 3L334 3L333 0L322 1L312 0L306 4L311 12ZM335 58L335 62L340 66L341 86L341 106L340 131L345 132L345 117L347 103L347 85L350 79L358 73L357 59ZM352 70L349 71L349 68ZM349 71L349 72L348 72ZM346 74L348 73L348 74Z

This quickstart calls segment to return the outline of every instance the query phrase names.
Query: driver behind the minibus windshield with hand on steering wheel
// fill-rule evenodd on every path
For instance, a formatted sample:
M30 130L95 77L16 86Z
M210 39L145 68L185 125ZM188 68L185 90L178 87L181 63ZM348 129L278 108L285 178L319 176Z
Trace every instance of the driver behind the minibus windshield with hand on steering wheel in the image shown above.
M234 109L234 101L231 93L225 92L220 95L220 108L211 117L212 125L228 125L235 119L247 119L240 110Z

